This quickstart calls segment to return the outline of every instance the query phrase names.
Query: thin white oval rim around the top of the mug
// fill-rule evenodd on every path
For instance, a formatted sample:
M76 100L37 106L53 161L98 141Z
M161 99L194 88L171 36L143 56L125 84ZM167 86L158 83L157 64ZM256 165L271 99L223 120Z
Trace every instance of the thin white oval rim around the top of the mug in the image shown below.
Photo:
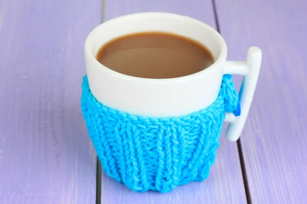
M189 74L189 75L184 75L182 77L176 77L176 78L164 78L164 79L155 79L155 78L141 78L141 77L134 77L131 75L127 75L127 74L123 74L117 71L114 71L104 65L102 65L100 62L98 62L98 60L96 59L96 57L94 56L94 54L92 53L92 41L94 40L93 35L97 32L97 30L99 30L101 27L105 26L106 24L112 23L114 21L118 21L124 18L131 18L131 17L142 17L146 15L147 17L152 15L153 17L155 16L159 16L159 17L171 17L171 18L177 18L178 20L188 20L191 23L197 23L199 26L202 27L206 27L206 29L210 30L212 33L214 33L214 35L218 38L218 41L221 43L222 45L222 49L220 54L218 55L217 59L214 61L214 63L207 67L206 69L203 69L202 71L193 73L193 74ZM198 40L196 40L198 41ZM198 41L199 42L199 41ZM201 42L199 42L201 43ZM201 43L203 44L203 43ZM205 45L206 46L206 45ZM215 29L213 29L210 25L206 24L205 22L202 22L200 20L191 18L189 16L184 16L184 15L180 15L180 14L175 14L175 13L167 13L167 12L141 12L141 13L133 13L133 14L127 14L127 15L123 15L123 16L119 16L119 17L115 17L112 18L110 20L107 20L99 25L97 25L97 27L95 27L90 34L86 37L85 40L85 44L84 44L84 52L85 52L85 56L88 57L90 60L95 61L94 63L99 66L101 69L104 69L105 71L108 71L109 74L112 74L118 78L121 79L126 79L126 80L139 80L139 81L151 81L151 82L159 82L161 83L161 81L169 81L169 82L176 82L176 81L181 81L181 80L191 80L194 79L195 77L199 77L200 75L206 74L207 72L211 71L214 69L214 67L216 67L218 64L221 64L223 61L226 61L226 56L227 56L227 45L226 42L224 40L224 38L222 37L222 35L220 33L218 33Z

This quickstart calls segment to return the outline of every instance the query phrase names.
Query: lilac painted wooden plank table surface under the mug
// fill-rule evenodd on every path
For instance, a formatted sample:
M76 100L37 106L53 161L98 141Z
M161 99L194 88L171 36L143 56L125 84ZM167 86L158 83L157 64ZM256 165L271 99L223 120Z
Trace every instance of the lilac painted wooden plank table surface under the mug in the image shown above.
M0 0L0 204L307 203L305 0ZM239 141L221 137L204 182L136 193L101 172L80 110L83 44L124 14L178 13L263 59ZM242 80L235 77L236 84Z

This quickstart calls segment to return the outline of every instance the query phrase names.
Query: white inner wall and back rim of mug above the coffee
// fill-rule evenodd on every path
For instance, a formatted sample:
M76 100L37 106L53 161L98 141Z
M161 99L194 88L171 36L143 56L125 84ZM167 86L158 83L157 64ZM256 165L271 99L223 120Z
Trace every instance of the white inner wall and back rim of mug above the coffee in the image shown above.
M142 32L165 32L198 41L210 50L215 62L222 55L226 56L226 43L213 28L193 18L171 13L137 13L106 21L92 31L85 49L89 49L96 58L99 48L105 43Z

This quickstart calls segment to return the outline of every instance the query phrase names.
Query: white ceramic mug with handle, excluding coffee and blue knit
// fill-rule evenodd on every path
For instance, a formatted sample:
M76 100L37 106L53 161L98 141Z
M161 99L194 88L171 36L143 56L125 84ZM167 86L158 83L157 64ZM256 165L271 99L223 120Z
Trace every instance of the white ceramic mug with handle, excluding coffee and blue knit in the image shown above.
M132 33L161 31L182 35L207 47L214 63L200 71L172 79L144 79L121 74L96 60L101 46ZM246 62L226 61L223 37L209 25L172 13L136 13L108 20L96 27L85 42L87 79L93 96L103 105L134 115L149 117L182 116L210 106L218 96L223 74L244 75L240 89L241 114L226 113L231 122L227 139L236 141L246 121L256 88L261 50L251 47Z

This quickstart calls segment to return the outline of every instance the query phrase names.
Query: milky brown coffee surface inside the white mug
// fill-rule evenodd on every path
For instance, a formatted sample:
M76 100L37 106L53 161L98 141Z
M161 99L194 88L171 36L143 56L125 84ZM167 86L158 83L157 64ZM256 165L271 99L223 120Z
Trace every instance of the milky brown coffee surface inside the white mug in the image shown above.
M183 77L214 63L210 51L200 43L161 32L113 39L99 49L96 59L119 73L151 79Z

